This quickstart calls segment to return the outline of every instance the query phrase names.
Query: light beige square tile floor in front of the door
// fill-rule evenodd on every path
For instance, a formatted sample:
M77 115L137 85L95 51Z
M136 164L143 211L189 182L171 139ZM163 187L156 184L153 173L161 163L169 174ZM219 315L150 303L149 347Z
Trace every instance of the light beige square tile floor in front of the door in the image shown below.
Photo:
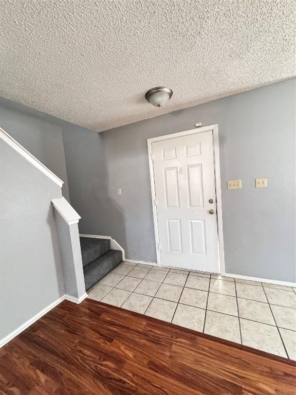
M296 360L296 289L122 262L88 297Z

